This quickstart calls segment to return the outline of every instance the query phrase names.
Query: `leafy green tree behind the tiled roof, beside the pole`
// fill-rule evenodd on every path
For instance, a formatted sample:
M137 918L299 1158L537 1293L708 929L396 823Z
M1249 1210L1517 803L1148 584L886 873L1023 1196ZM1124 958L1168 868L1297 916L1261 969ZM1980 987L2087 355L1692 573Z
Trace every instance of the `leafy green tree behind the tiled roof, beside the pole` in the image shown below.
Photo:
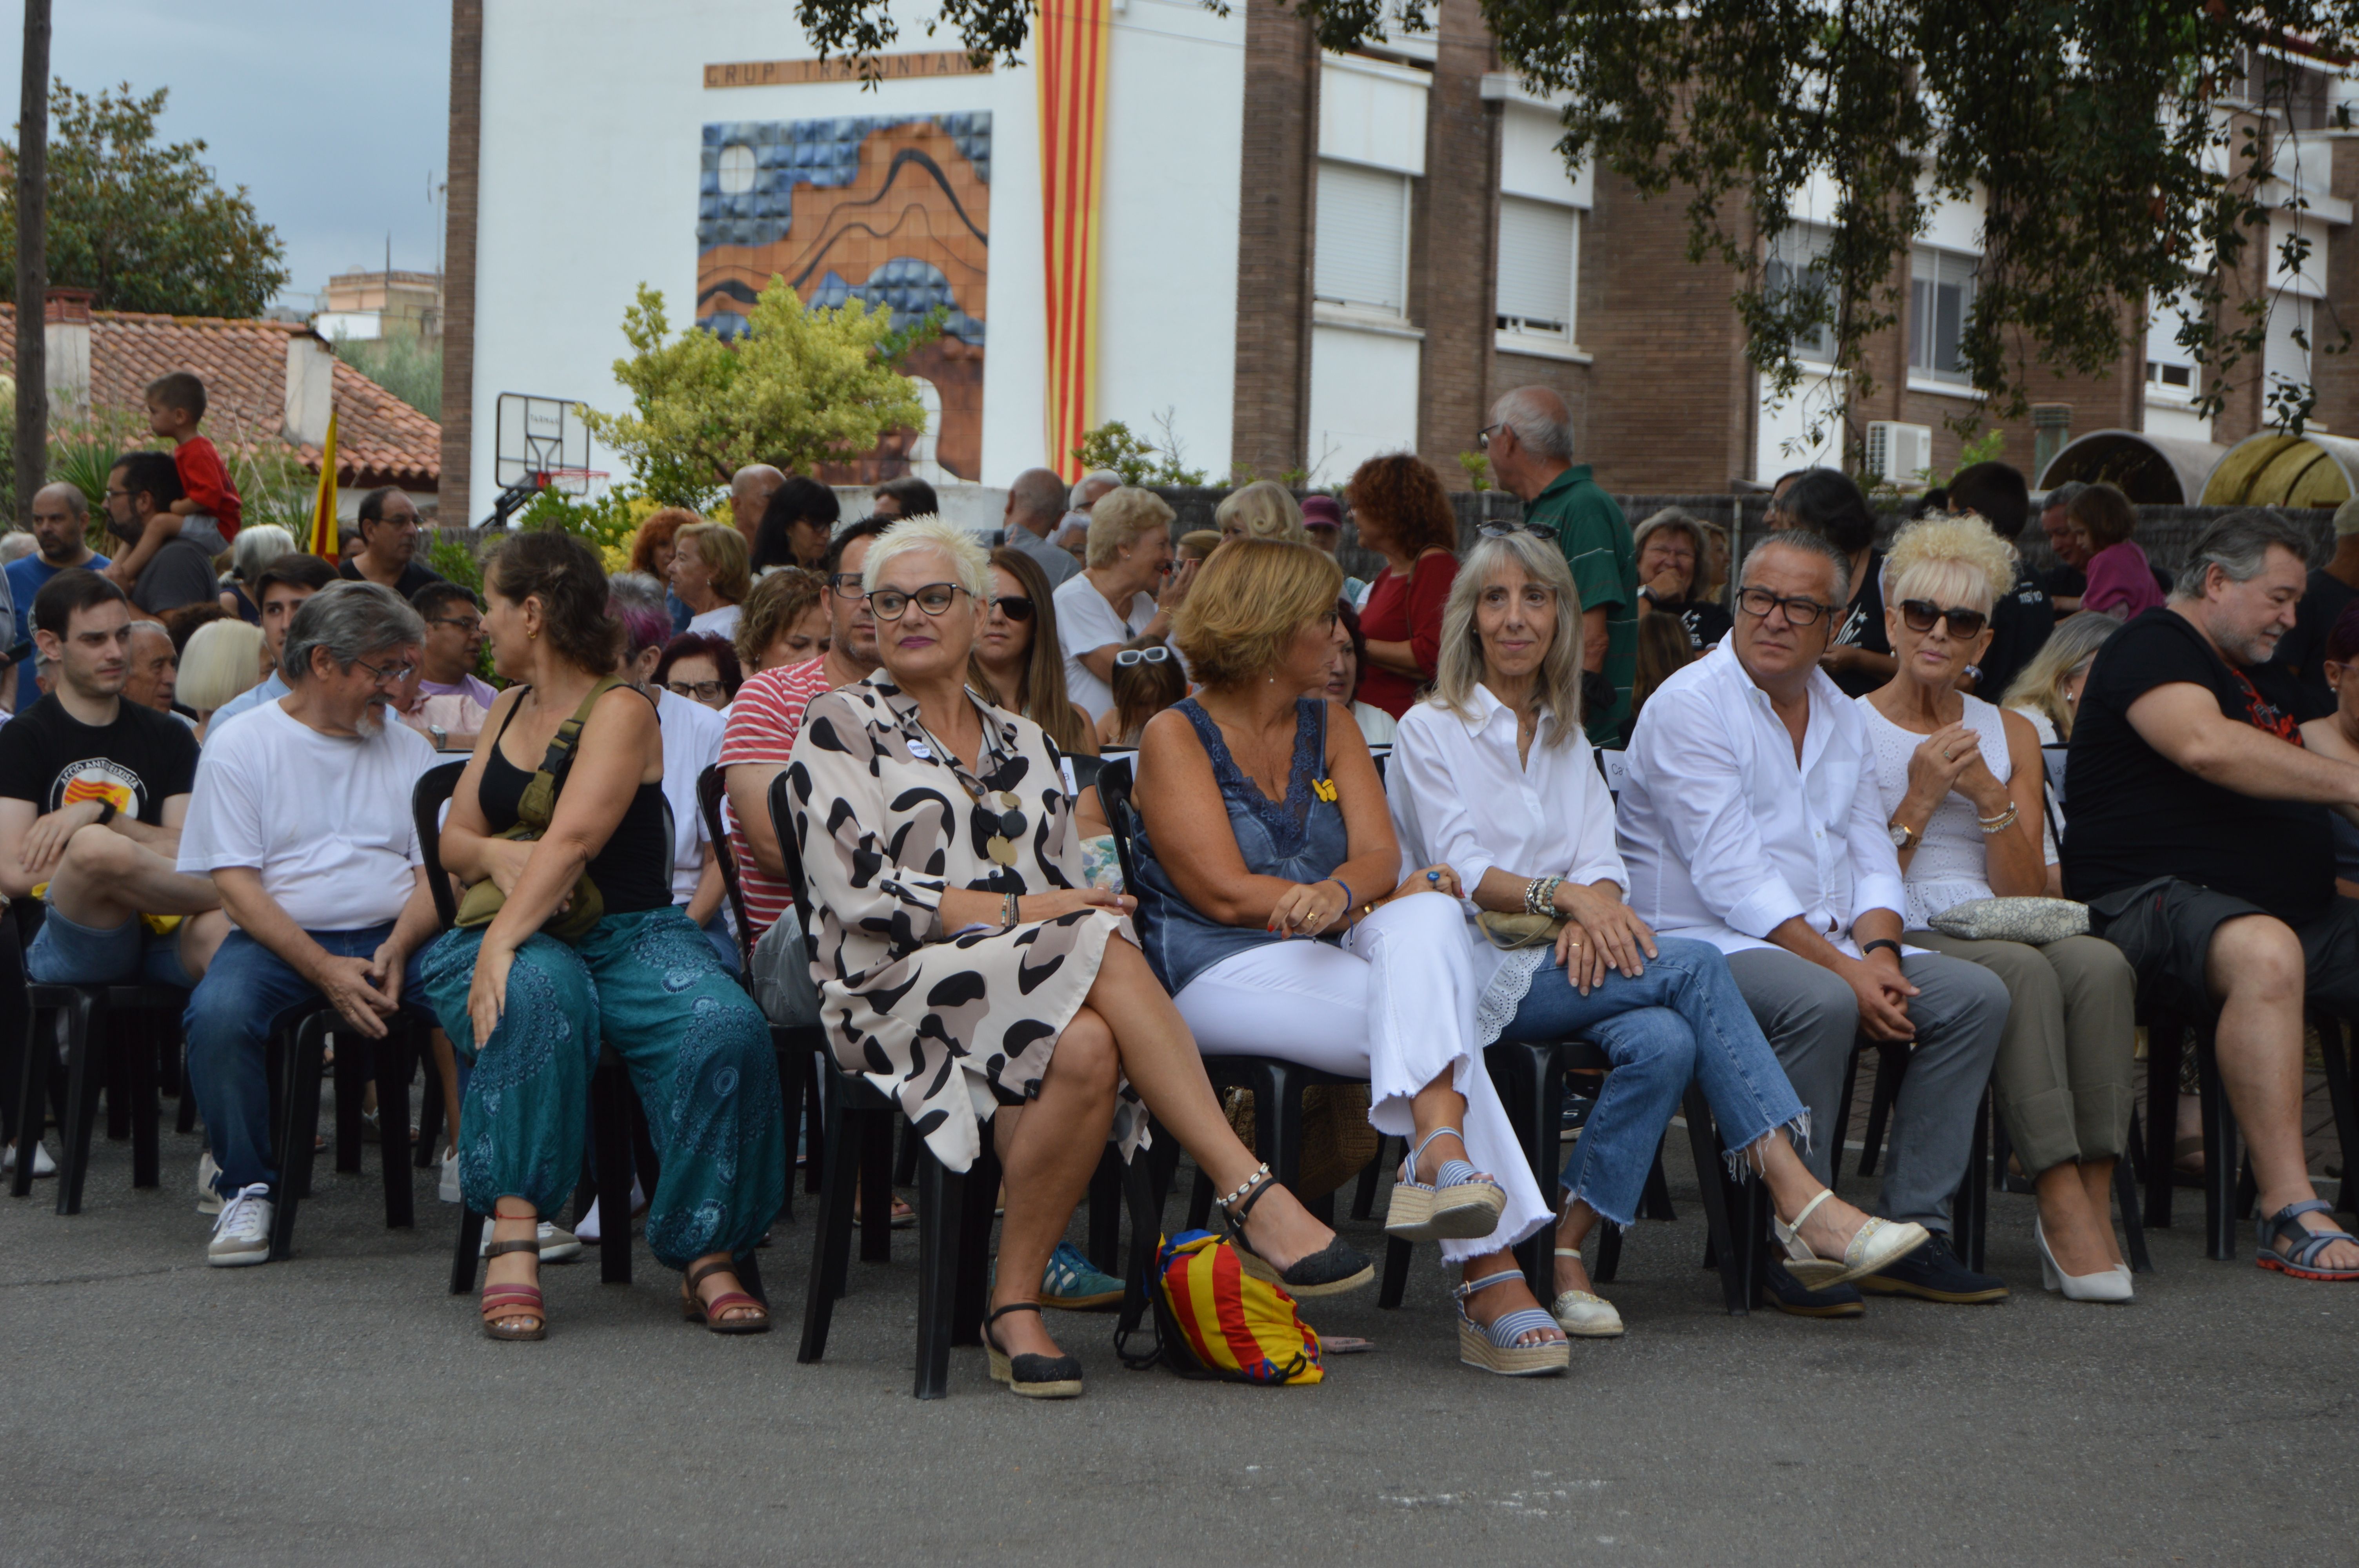
M259 316L285 281L285 245L245 186L224 191L203 141L158 146L165 87L50 92L50 283L101 311ZM0 144L14 163L14 141ZM17 182L0 184L0 271L17 266Z

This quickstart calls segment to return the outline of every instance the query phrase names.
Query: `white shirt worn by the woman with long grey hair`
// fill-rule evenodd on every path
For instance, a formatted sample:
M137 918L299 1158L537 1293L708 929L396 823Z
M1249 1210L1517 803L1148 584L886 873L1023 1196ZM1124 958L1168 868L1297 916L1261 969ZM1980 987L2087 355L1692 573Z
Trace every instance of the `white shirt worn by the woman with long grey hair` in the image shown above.
M1392 736L1385 797L1401 839L1401 877L1448 865L1472 894L1498 868L1512 877L1628 882L1614 849L1614 795L1597 773L1588 738L1573 729L1548 745L1557 719L1540 714L1531 762L1514 755L1514 712L1477 686L1460 717L1425 700L1401 714ZM1489 986L1505 953L1474 931L1474 901L1463 903L1474 941L1477 983Z

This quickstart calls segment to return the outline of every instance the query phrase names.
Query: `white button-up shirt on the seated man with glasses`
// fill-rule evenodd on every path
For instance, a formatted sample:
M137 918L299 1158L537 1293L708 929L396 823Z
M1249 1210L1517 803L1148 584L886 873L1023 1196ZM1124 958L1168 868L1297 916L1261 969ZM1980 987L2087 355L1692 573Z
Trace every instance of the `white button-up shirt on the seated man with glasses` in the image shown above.
M1852 922L1906 908L1866 722L1824 670L1809 674L1800 766L1769 693L1722 641L1647 698L1628 771L1630 905L1665 936L1741 953L1800 915L1859 957Z

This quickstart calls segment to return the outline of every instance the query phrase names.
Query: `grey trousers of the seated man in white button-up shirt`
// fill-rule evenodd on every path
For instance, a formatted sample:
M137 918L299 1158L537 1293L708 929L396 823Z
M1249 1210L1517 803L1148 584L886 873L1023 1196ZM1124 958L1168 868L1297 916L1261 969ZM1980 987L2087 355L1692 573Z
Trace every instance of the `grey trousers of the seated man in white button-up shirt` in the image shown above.
M1833 1186L1849 1132L1835 1125L1835 1113L1859 1037L1859 1000L1831 969L1781 948L1732 953L1729 974L1809 1108L1812 1139L1802 1162ZM1885 1191L1875 1212L1946 1236L1949 1198L1965 1177L1974 1137L1974 1106L2008 1028L2008 988L1989 969L1937 953L1911 955L1901 974L1918 988L1908 997L1918 1035L1892 1111Z

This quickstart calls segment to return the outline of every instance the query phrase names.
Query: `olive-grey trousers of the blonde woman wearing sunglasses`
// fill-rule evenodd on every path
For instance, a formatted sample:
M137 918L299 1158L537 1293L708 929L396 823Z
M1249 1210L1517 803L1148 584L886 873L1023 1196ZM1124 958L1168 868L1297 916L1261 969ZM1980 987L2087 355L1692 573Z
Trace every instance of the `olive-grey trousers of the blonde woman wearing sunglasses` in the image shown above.
M2100 936L2045 948L1908 931L1908 941L2005 983L2012 1007L1998 1037L1998 1113L2033 1177L2066 1160L2116 1160L2130 1141L2130 1056L2137 1049L2137 971Z

